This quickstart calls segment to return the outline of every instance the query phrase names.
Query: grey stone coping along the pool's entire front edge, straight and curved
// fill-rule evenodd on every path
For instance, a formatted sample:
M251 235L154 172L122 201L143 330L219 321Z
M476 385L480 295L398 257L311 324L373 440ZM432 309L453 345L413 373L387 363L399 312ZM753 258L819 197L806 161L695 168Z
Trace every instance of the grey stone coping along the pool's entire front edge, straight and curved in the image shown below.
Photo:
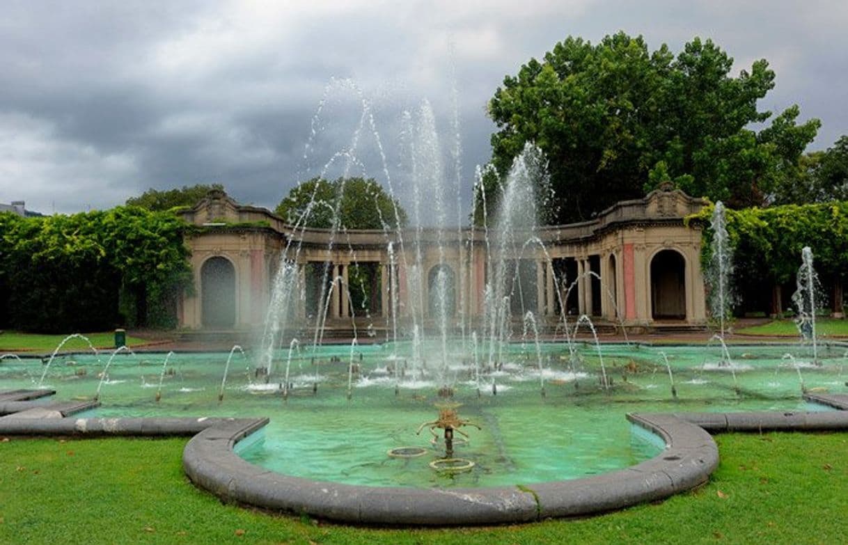
M4 392L0 392L0 400ZM25 394L18 394L25 395ZM848 396L809 395L810 401L848 407ZM40 404L48 411L53 406ZM33 410L33 409L29 409ZM628 414L656 433L666 448L623 470L568 481L515 487L364 487L311 481L250 464L233 447L268 423L235 418L74 418L56 415L0 418L3 435L192 436L182 454L188 477L219 498L274 511L382 526L458 526L529 522L622 509L698 487L718 465L710 433L722 431L848 430L848 411ZM60 415L59 415L60 414Z

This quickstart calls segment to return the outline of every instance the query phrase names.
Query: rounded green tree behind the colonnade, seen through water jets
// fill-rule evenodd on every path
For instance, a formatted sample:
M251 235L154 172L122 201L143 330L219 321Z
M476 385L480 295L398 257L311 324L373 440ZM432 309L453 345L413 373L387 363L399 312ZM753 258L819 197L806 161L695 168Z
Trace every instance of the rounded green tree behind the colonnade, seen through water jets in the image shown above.
M345 229L393 229L406 225L406 212L397 199L373 178L313 178L294 187L274 210L291 225L320 229L332 228L337 212L338 227Z

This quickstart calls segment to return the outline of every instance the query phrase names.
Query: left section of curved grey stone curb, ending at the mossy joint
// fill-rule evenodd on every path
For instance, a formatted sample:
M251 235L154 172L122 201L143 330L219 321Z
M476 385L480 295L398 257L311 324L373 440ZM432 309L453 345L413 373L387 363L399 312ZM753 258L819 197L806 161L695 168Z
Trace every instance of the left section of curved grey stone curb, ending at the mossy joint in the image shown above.
M249 464L233 452L246 435L234 426L203 431L186 445L189 478L216 496L265 509L345 522L382 525L471 525L524 522L538 517L533 494L517 487L435 490L357 487L310 481Z

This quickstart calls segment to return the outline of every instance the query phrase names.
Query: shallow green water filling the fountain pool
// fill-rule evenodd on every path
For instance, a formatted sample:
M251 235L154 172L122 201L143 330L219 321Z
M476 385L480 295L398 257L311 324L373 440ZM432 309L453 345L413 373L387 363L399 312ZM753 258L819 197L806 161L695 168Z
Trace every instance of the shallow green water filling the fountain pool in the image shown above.
M600 359L593 347L580 347L579 361L572 364L563 344L549 343L541 347L544 397L532 344L511 345L501 360L503 370L483 372L479 396L473 356L450 355L445 380L413 382L410 350L408 344L354 348L360 373L350 399L349 347L321 348L315 364L308 351L295 354L287 399L280 391L287 350L277 354L267 384L254 376L254 354L235 353L222 403L227 353L173 355L159 402L165 354L118 354L101 387L103 407L86 415L268 416L271 424L237 450L271 470L372 486L492 487L596 475L656 455L660 442L633 428L624 418L628 412L816 409L801 399L801 381L807 389L848 392L844 349L836 348L823 349L820 366L810 364L806 349L797 345L732 348L734 377L720 364L717 347L605 345L602 358L612 381L607 391L600 386ZM677 398L661 352L672 367ZM433 363L441 360L440 348L427 347L425 353L433 360L430 367L442 373L443 366ZM92 398L108 360L109 353L59 357L43 386L57 390L58 400ZM477 360L488 362L488 352L481 349ZM400 369L404 362L399 383L387 367ZM3 359L0 389L35 387L43 370L39 359ZM445 381L455 391L451 401L461 403L460 418L482 428L462 429L470 440L456 445L455 456L475 466L458 475L431 470L427 464L444 455L444 446L433 445L426 428L416 435L421 423L438 417L435 405L445 400L437 390ZM390 458L387 451L398 447L427 448L427 454Z

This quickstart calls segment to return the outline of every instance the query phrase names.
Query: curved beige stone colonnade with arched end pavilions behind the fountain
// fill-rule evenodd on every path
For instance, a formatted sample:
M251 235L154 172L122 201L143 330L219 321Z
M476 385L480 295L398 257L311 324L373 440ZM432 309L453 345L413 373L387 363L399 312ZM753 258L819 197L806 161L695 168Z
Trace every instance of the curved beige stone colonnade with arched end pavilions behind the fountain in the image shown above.
M588 314L594 321L633 328L705 324L700 225L683 223L704 204L664 186L644 198L616 203L594 220L540 228L535 236L541 244L527 244L521 255L510 256L521 260L522 274L529 275L529 285L535 288L535 293L522 295L522 304L527 303L549 328L561 321L563 308L567 314ZM294 259L302 279L309 270L320 269L315 267L318 264L326 266L328 278L338 279L335 282L341 285L347 284L352 264L371 264L380 271L375 276L379 286L373 286L380 292L380 304L372 309L372 322L376 318L388 321L392 287L398 296L393 318L403 320L409 298L427 301L432 279L441 269L455 286L451 291L454 300L449 302L454 316L474 324L483 314L489 273L485 234L479 228L463 228L461 242L456 230L441 236L436 230L421 231L422 281L416 286L421 286L422 293L410 294L406 286L411 271L408 264L415 259L410 250L414 230L400 234L345 231L331 245L330 231L298 229L295 234L291 225L267 209L241 205L220 191L209 192L181 214L200 227L187 240L196 286L195 295L180 305L181 325L187 328L261 327L281 254L293 237L302 242L296 258L290 253L289 259ZM436 243L439 240L441 250ZM403 241L405 250L401 249ZM365 325L362 318L351 317L348 297L346 289L331 290L328 327L349 328L357 320ZM315 311L305 308L309 305L304 297L298 298L296 305L294 315L307 323ZM426 306L425 317L429 313ZM224 309L224 318L219 315L212 320L214 309Z

